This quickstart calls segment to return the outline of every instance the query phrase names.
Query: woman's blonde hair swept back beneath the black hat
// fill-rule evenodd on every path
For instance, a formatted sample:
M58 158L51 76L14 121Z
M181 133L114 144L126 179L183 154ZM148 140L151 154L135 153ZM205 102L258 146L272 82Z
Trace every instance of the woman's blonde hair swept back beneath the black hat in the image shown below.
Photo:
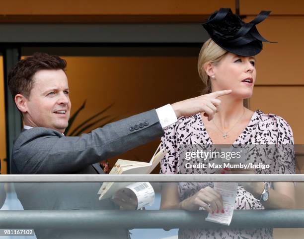
M202 91L202 94L211 93L211 80L204 69L204 65L206 63L215 65L218 64L226 53L227 51L217 45L211 38L208 39L202 46L197 63L199 75L203 83L206 85L206 88Z

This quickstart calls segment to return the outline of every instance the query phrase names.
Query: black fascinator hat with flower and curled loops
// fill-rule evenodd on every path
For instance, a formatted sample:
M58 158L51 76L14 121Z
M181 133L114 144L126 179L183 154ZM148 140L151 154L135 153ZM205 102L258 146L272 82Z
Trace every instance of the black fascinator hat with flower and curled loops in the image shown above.
M261 11L255 19L245 23L230 8L220 8L202 25L220 47L236 55L250 57L262 51L262 42L269 42L260 35L255 26L269 14L270 11Z

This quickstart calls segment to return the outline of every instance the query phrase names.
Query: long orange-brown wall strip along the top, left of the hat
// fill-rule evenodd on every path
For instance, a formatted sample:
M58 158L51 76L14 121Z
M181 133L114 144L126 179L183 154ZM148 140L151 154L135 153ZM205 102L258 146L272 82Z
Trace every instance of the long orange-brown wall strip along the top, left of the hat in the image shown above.
M18 6L18 7L16 7ZM210 14L220 7L234 8L234 0L11 0L1 2L5 15L166 15Z

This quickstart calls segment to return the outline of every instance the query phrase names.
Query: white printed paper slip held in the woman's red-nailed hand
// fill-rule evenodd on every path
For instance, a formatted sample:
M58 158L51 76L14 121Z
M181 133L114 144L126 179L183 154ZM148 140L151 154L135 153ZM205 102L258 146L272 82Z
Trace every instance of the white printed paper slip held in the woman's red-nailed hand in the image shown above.
M215 182L213 189L222 195L225 213L209 213L206 221L229 226L231 223L237 194L237 182Z

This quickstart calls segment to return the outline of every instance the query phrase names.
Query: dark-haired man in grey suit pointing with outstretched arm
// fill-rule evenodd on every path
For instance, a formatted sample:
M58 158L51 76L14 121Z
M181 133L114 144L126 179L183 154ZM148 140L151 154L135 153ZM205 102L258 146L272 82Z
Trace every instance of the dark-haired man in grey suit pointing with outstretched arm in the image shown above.
M12 151L14 174L102 174L98 162L163 135L180 116L205 112L212 119L218 96L200 96L109 123L79 137L63 135L71 101L66 61L44 53L20 60L8 75L8 85L24 120L24 131ZM100 183L33 183L16 185L24 209L114 209L98 201ZM102 225L101 225L102 227ZM125 230L35 230L38 238L127 238Z

